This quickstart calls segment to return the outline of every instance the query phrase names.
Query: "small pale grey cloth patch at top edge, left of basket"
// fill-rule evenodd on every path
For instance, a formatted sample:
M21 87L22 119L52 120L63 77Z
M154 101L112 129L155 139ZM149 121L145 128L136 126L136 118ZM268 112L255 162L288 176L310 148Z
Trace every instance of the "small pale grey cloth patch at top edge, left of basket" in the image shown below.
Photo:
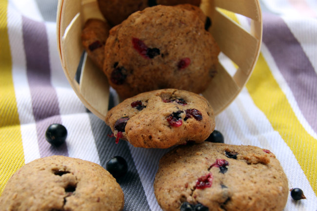
M35 0L45 21L56 22L58 0Z

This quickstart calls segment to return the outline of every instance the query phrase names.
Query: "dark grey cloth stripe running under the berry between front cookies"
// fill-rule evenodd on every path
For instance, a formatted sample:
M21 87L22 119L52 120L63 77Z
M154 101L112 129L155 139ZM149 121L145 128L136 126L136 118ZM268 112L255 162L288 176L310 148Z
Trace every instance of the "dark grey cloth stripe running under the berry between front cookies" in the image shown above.
M92 113L88 113L88 115L96 141L100 165L105 167L108 159L115 155L122 156L128 163L127 174L117 179L117 182L120 184L124 192L125 204L123 211L150 211L150 207L127 142L120 140L119 143L116 144L115 138L108 136L112 134L110 127Z

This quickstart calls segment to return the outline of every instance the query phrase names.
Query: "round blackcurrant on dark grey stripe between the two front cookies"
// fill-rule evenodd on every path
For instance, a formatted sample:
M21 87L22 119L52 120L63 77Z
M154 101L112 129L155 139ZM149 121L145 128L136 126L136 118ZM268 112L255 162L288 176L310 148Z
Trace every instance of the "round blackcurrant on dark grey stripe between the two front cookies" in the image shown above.
M118 178L127 173L128 164L123 157L114 156L107 161L106 170L111 173L113 177Z

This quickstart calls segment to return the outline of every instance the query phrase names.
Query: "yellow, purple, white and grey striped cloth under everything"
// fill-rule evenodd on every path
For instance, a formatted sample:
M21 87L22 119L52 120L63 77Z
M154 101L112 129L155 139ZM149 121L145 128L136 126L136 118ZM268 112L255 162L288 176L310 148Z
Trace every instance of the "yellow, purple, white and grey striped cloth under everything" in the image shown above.
M114 155L128 162L118 179L124 211L161 211L153 182L168 149L135 148L109 137L64 76L57 48L57 0L0 0L0 194L34 159L65 155L105 167ZM216 116L225 143L275 153L289 182L307 199L289 196L284 211L317 211L317 1L260 0L261 52L246 86ZM250 21L228 14L246 30ZM220 56L223 66L234 64ZM112 101L118 101L113 90ZM45 140L52 123L68 130L58 149Z

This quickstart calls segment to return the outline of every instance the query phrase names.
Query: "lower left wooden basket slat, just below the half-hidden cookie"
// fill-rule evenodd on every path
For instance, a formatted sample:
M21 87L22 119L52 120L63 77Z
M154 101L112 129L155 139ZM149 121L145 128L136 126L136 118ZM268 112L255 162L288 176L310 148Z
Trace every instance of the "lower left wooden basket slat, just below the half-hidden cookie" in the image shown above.
M86 107L100 119L105 119L109 104L109 83L105 74L90 58L84 59L79 91L86 101Z

